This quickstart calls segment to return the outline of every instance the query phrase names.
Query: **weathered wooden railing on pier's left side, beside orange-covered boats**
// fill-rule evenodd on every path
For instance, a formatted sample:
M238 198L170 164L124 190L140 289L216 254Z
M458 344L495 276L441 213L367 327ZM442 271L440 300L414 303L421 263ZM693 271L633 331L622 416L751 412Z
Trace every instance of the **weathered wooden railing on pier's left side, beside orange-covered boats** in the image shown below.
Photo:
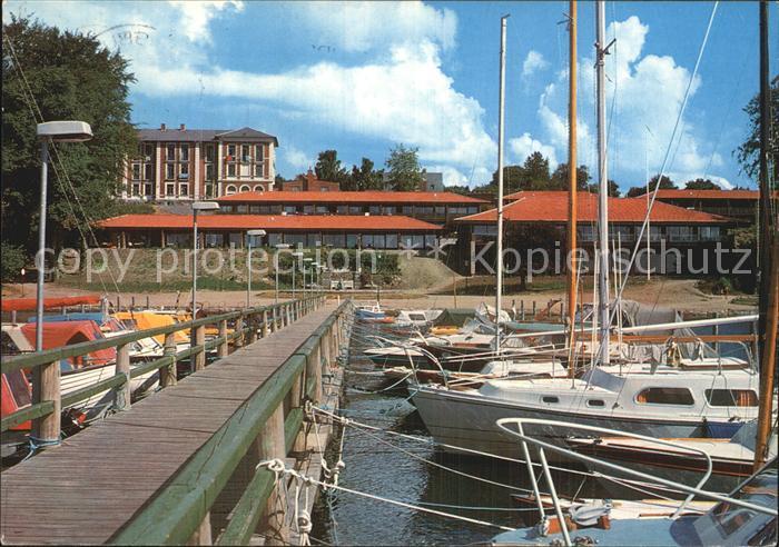
M32 371L32 405L17 410L0 420L0 431L32 420L32 436L38 440L56 440L60 437L60 412L76 402L83 401L102 391L116 390L116 408L124 410L130 407L130 379L159 370L159 384L167 387L176 384L176 364L190 359L191 371L206 366L206 352L216 348L218 357L228 355L230 345L234 348L252 344L258 336L276 330L297 318L317 309L324 302L323 296L313 296L299 300L279 302L273 306L260 306L216 316L204 317L194 321L185 321L166 327L138 330L117 337L88 342L75 344L20 357L3 360L0 371L13 372L26 369ZM228 332L228 322L234 322L233 332ZM206 326L217 325L219 336L206 341ZM183 351L176 351L175 335L179 331L190 331L193 346ZM130 368L129 345L152 336L165 336L164 357ZM116 348L116 374L62 396L60 394L59 361L72 357L81 357L100 349Z

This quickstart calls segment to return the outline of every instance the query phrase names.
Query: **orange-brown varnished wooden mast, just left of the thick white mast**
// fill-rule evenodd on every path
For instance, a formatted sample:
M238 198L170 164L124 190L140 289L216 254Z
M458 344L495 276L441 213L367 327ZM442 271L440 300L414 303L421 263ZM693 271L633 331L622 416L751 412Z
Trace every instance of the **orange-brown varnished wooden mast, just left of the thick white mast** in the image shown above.
M576 334L576 0L569 9L569 100L568 100L568 328L570 355L573 356ZM573 360L569 374L574 374Z

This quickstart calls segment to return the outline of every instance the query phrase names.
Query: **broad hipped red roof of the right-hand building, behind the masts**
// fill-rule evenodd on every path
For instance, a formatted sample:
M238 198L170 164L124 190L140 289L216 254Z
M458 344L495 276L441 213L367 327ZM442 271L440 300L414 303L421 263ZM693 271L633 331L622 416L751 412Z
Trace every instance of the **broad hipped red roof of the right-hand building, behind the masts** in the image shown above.
M503 218L509 222L554 222L568 221L568 192L565 191L523 191L511 195L513 202L503 208ZM578 216L580 222L598 220L598 195L579 192ZM645 198L609 198L610 222L643 222L647 216ZM461 217L458 222L494 222L495 209ZM652 222L665 223L722 223L731 220L718 215L692 211L662 201L652 207Z

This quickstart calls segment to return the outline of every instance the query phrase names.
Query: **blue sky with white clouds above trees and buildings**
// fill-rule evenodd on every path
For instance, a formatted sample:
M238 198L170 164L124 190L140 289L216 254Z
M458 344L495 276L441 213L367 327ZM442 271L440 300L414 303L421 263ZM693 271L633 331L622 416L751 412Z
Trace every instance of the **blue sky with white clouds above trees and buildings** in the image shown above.
M712 11L713 22L692 79ZM403 143L447 185L497 166L500 18L505 165L568 158L568 2L21 1L10 13L91 32L130 60L131 121L252 127L279 140L285 178L335 149L377 168ZM607 2L608 176L623 190L665 172L755 187L733 150L759 89L757 2ZM770 2L771 58L779 17ZM594 3L579 2L579 163L595 173ZM771 73L777 73L776 61ZM689 99L677 119L689 87ZM676 138L674 127L677 127Z

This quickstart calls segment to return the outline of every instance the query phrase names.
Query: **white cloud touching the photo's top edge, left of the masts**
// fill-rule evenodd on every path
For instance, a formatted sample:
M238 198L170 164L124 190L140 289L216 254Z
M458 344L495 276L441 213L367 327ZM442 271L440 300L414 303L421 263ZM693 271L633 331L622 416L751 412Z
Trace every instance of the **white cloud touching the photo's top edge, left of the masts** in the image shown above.
M457 16L420 1L293 2L317 43L349 52L385 49L397 43L431 41L444 50L455 44Z

